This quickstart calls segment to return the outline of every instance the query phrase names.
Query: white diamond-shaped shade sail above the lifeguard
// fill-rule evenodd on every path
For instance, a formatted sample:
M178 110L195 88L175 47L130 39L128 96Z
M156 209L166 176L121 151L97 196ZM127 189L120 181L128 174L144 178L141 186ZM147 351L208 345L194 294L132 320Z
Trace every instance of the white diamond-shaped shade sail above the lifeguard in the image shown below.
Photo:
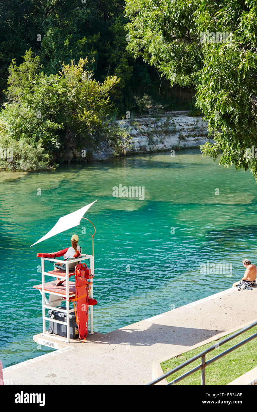
M78 226L80 224L80 220L83 218L83 215L85 215L86 211L94 204L97 200L94 202L88 204L87 206L83 206L82 208L76 210L75 212L69 213L66 216L63 216L58 220L58 222L54 225L54 227L45 234L45 236L41 237L37 242L33 243L34 246L39 242L42 242L45 239L48 239L58 233L64 232L65 230L71 229L74 226Z

